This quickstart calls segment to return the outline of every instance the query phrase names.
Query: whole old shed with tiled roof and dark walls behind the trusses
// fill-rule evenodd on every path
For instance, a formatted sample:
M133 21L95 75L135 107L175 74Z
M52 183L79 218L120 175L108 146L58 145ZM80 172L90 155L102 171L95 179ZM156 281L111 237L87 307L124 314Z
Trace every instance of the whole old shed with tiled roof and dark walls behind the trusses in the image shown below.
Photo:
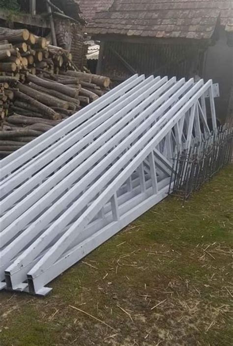
M233 1L115 0L88 33L101 42L97 73L116 81L136 72L212 78L218 117L232 112Z

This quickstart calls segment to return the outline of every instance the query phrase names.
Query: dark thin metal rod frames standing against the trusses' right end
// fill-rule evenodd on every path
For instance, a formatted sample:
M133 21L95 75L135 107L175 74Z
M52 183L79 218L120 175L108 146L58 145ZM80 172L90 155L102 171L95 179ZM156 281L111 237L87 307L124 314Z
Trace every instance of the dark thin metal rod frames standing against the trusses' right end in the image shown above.
M195 138L189 150L181 149L174 158L169 193L189 198L229 164L232 153L233 127L221 126L207 138Z

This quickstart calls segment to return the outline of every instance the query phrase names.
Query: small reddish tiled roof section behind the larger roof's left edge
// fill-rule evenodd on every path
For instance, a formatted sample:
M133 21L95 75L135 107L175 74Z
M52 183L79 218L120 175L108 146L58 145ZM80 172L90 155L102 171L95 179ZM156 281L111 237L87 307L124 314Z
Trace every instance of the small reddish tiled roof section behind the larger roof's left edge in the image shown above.
M75 0L79 3L83 17L91 21L95 14L100 11L107 11L114 0Z

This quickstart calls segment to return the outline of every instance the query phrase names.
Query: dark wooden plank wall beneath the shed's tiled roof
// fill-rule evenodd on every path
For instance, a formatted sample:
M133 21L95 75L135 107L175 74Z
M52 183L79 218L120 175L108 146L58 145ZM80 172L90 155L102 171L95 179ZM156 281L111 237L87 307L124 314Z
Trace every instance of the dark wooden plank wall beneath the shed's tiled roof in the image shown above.
M204 50L197 45L107 41L101 73L116 80L128 78L133 70L139 74L187 78L195 69L202 70L203 56Z

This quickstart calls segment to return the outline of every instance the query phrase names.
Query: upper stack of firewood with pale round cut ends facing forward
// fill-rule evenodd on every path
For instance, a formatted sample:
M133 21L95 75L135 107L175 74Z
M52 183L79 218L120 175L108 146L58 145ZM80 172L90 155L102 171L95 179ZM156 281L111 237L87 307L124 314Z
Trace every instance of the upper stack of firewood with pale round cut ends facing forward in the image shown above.
M0 72L15 75L22 81L25 74L36 74L36 68L58 73L72 66L72 56L60 47L50 45L45 37L27 29L0 28ZM27 73L26 73L27 72Z

